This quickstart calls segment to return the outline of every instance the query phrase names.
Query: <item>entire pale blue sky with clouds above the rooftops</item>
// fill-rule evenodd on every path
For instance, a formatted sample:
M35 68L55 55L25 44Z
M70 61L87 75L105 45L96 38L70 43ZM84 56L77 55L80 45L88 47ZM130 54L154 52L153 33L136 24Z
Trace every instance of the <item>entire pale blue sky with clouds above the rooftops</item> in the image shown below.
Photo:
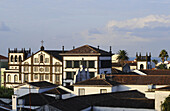
M0 54L8 48L100 46L170 54L170 0L0 0Z

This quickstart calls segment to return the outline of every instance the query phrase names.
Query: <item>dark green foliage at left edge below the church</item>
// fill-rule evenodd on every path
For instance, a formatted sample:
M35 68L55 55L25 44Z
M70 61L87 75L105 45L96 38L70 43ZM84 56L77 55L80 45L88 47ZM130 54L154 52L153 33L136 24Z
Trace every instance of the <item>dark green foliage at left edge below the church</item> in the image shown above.
M0 98L12 98L13 94L12 88L0 87Z

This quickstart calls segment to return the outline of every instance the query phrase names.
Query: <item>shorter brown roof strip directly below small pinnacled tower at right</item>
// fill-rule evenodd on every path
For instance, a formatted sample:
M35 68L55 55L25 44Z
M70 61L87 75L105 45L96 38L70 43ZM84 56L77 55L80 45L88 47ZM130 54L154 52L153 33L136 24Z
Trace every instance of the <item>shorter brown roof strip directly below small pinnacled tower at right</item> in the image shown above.
M147 69L147 70L140 70L141 72L147 74L147 75L170 75L170 70L168 69L157 69L157 70L152 70L152 69Z

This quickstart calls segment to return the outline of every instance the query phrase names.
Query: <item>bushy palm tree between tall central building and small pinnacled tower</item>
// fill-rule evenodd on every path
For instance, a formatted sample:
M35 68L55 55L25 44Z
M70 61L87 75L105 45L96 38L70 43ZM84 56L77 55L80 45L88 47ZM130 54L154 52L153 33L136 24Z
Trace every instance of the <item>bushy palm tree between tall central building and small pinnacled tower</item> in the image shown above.
M117 60L119 60L119 62L121 63L121 65L123 66L124 61L128 60L128 54L125 50L119 50L118 51L118 57Z

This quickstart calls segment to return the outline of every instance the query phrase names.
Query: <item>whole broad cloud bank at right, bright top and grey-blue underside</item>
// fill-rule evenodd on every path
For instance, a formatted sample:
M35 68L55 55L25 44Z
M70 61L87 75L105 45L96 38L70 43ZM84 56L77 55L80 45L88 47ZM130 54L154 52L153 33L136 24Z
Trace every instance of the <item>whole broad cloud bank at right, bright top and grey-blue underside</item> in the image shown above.
M76 36L77 39L81 37L85 43L95 46L124 47L131 50L132 55L136 50L155 49L158 44L170 42L170 15L149 15L125 21L112 20L104 27L85 30Z

